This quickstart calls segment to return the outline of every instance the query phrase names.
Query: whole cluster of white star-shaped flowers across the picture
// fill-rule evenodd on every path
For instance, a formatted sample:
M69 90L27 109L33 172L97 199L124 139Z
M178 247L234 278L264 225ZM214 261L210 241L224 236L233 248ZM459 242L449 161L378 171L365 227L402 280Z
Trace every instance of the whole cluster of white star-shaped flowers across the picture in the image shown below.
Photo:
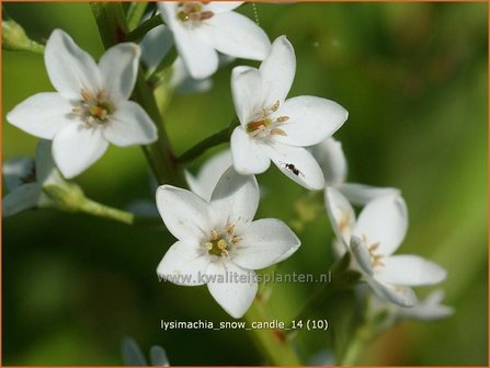
M186 173L192 192L172 185L157 189L158 210L178 239L158 265L159 277L186 286L207 284L231 317L247 312L258 291L254 269L282 262L300 246L281 220L253 220L260 200L254 175L265 172L272 160L303 187L324 189L335 243L341 245L338 254L352 253L352 267L375 294L401 307L414 306L410 287L440 283L446 273L415 255L392 255L408 228L400 192L345 183L346 160L331 136L347 119L346 110L317 96L287 99L296 73L294 48L286 36L271 44L261 27L233 11L240 4L160 2L166 25L141 43L147 70L155 70L175 46L175 85L187 78L206 83L221 54L262 61L259 68L232 69L231 93L240 124L232 131L230 150L196 177ZM155 49L156 39L167 39L161 49ZM71 179L96 161L109 142L126 147L157 140L148 114L129 101L140 54L136 44L123 43L95 64L65 32L53 32L45 64L57 92L29 97L7 115L14 126L53 143L39 146L48 153L38 153L35 170L23 160L4 165L8 184L14 177L22 183L11 185L4 215L43 207L48 200L44 183L62 180L53 161L43 163L50 160L49 153L60 173ZM351 203L364 206L357 218ZM229 273L238 278L230 279Z

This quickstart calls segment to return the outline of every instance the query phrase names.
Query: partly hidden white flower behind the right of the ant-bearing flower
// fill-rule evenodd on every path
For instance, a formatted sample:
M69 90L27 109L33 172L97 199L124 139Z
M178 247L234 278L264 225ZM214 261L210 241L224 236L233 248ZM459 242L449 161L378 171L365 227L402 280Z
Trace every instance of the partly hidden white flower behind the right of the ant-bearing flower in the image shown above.
M328 138L311 147L311 153L320 164L327 186L339 189L353 205L364 206L371 200L388 194L400 195L400 191L394 187L346 183L347 161L342 150L342 143L333 138Z

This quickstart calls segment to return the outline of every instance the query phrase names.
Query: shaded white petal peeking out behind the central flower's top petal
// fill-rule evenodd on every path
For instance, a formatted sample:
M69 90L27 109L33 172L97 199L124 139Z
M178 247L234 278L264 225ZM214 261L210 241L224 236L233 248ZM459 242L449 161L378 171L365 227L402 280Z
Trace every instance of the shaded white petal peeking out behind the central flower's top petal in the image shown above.
M219 177L231 166L231 151L226 149L207 160L194 177L187 171L184 172L189 187L205 200L210 200L210 195L218 183Z

